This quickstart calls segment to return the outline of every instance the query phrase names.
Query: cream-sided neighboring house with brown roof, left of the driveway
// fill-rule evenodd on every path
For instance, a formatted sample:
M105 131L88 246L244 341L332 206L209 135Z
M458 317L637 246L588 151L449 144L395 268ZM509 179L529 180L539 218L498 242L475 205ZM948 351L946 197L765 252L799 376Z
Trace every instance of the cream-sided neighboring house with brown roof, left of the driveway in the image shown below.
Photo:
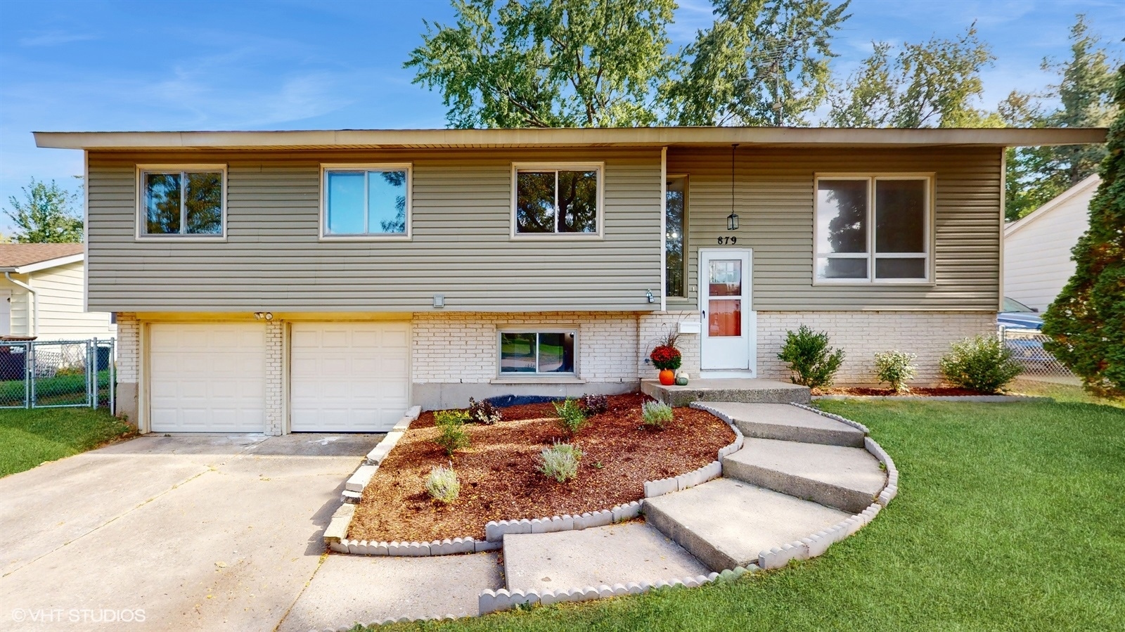
M112 314L86 312L82 244L0 244L0 335L109 338Z

